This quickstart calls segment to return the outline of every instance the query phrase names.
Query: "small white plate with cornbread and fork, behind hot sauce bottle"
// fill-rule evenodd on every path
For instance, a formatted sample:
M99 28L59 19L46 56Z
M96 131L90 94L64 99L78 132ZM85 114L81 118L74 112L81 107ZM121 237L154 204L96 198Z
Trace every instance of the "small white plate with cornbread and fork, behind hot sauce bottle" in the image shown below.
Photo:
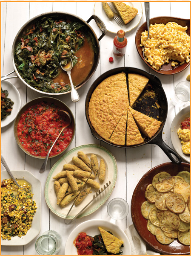
M123 29L125 32L131 31L140 23L140 20L143 15L142 4L140 2L124 2L128 6L133 6L134 8L138 9L137 15L131 20L128 24L124 24L123 27L120 27L114 18L109 18L103 10L102 2L96 2L94 5L94 15L100 17L103 23L106 26L108 32L117 33L118 30ZM111 3L111 6L113 4ZM113 6L114 11L116 11L115 7ZM117 11L116 11L117 12Z

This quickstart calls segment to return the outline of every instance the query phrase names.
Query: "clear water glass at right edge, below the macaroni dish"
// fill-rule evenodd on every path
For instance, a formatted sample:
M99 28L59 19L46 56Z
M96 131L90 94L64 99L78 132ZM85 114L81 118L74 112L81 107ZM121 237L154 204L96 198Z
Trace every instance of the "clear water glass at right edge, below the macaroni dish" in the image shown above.
M178 83L174 90L174 96L171 99L172 104L183 104L190 100L190 82L182 81Z

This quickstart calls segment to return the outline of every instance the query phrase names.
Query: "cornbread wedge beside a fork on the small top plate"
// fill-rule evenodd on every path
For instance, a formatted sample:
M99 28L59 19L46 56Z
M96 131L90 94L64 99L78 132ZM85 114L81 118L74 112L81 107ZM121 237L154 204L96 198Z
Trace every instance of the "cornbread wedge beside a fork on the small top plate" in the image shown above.
M138 13L138 10L123 2L112 2L125 24L129 23Z

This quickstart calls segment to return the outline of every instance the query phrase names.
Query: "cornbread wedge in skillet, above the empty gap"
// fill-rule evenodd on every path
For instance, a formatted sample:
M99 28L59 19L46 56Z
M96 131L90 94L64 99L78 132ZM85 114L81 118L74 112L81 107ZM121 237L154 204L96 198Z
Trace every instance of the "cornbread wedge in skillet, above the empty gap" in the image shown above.
M148 80L149 79L145 76L128 74L129 105L131 107L142 93L148 83Z

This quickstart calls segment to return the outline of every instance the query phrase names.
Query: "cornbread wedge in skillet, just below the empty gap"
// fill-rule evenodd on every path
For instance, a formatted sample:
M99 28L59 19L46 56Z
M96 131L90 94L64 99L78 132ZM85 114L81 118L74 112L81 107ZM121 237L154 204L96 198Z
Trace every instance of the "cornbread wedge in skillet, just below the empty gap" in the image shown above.
M129 108L140 131L149 138L153 137L160 128L162 122L152 117L146 116L145 114L140 113L131 107Z

